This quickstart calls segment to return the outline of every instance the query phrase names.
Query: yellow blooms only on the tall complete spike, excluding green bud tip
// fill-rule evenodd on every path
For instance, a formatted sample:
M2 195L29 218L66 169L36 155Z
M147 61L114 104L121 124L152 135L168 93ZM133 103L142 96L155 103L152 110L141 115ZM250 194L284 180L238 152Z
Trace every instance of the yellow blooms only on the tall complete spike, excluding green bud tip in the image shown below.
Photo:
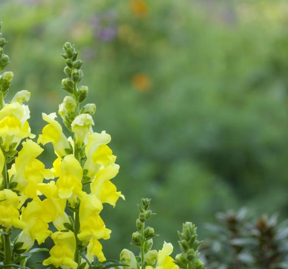
M119 165L115 164L116 157L107 145L111 136L104 131L101 134L94 133L91 116L80 114L71 124L74 139L67 138L55 117L55 113L43 114L48 124L38 138L42 144L51 142L57 156L51 169L56 180L37 185L38 191L46 197L45 200L51 202L50 209L54 213L52 222L59 230L52 234L55 246L50 250L50 257L44 261L44 265L77 268L73 262L76 244L87 247L87 258L90 261L94 255L99 261L105 260L98 240L109 239L111 230L106 228L100 217L102 203L115 206L118 198L124 199L124 196L111 182L119 171ZM85 156L81 160L75 157L75 147L83 148ZM84 187L87 182L90 188ZM69 208L77 210L79 207L78 216L74 212L74 220L76 222L78 218L80 224L76 238L71 231L64 231L67 224L70 224L65 212L66 203Z

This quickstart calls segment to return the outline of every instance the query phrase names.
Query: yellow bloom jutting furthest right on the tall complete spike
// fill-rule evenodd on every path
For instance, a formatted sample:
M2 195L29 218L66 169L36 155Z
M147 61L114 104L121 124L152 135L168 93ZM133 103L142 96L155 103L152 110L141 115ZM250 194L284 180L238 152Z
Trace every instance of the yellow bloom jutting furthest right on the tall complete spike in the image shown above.
M107 202L115 206L119 197L125 199L121 192L117 192L116 186L110 181L119 172L119 165L112 163L107 167L101 167L93 179L90 189L91 193L101 202Z

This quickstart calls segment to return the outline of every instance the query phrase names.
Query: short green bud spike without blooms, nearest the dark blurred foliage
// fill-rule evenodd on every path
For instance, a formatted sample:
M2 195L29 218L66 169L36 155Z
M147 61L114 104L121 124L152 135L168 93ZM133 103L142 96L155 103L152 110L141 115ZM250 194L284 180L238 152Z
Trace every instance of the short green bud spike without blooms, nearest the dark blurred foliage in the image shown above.
M182 232L178 231L178 235L178 243L182 253L176 255L175 263L182 269L204 269L203 263L199 260L198 251L202 242L197 240L195 224L186 222L183 224Z

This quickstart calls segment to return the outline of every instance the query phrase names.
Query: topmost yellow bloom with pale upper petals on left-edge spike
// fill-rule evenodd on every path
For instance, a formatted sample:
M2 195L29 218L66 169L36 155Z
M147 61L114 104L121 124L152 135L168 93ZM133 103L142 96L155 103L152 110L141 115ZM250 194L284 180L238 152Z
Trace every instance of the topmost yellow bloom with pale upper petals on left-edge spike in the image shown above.
M34 138L35 135L30 133L28 119L30 111L28 106L13 102L0 110L0 137L2 138L2 148L9 150L12 143L19 145L25 137Z

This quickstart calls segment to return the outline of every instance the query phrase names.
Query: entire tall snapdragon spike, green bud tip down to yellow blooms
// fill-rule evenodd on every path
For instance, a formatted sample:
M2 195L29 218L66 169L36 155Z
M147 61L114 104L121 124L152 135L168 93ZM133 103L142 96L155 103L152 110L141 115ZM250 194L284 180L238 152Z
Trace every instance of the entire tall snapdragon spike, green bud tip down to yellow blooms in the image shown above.
M66 78L62 86L69 95L60 104L58 112L71 134L69 137L64 134L55 119L56 113L43 113L43 119L48 124L38 142L53 145L56 159L51 173L55 180L40 182L37 188L45 200L51 202L53 218L50 221L61 233L56 234L57 238L60 236L71 240L74 237L73 244L70 244L71 241L67 243L67 246L73 247L67 248L63 247L65 244L56 242L53 233L55 246L44 265L76 269L95 263L95 256L98 261L105 261L99 240L109 239L111 230L106 227L100 213L103 203L115 206L119 197L124 199L124 196L111 182L119 171L119 165L115 164L116 157L107 145L111 136L105 131L94 133L94 104L80 107L89 92L86 86L78 87L83 77L83 62L77 59L78 52L70 43L63 46L63 51ZM72 217L68 216L66 209L72 212Z

